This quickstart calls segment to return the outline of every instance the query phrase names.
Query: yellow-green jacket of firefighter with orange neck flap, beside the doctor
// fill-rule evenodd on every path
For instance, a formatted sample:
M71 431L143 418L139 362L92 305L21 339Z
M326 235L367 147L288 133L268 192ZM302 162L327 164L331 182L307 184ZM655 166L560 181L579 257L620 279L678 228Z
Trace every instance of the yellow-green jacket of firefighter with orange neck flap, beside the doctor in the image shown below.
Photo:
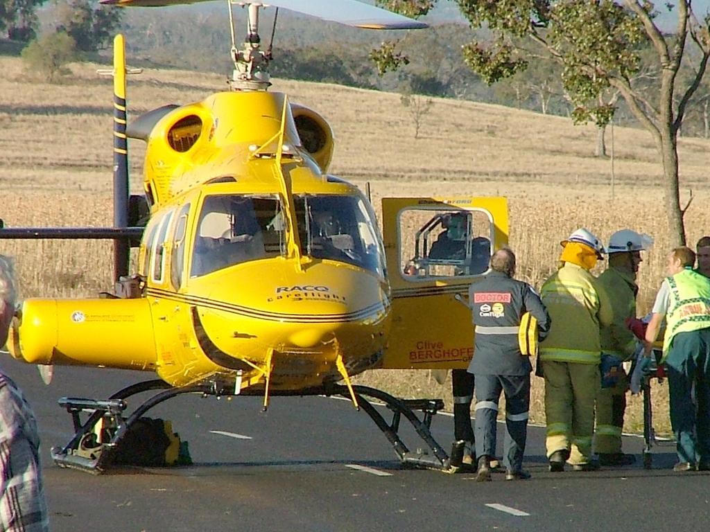
M542 285L540 295L552 318L540 358L599 364L599 328L611 324L613 311L597 279L583 267L564 262Z

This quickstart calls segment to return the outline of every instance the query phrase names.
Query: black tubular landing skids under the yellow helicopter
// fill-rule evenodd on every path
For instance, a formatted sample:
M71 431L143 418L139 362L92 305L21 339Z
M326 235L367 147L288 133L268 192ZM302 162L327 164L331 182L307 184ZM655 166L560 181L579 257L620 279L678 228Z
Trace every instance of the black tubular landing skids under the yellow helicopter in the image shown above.
M125 399L132 395L151 390L160 389L161 392L145 401L141 406L126 417L124 411L127 404ZM234 388L232 388L234 389ZM449 456L441 445L432 437L430 432L432 417L444 406L441 399L398 399L382 390L367 386L352 386L359 406L384 433L392 444L403 465L431 470L449 471ZM146 414L153 406L177 397L180 394L200 393L203 396L229 397L234 393L226 392L214 382L194 384L190 386L172 388L160 379L139 382L116 392L104 401L94 399L79 399L64 397L60 399L60 406L65 407L72 416L75 435L64 447L52 448L51 455L54 462L60 467L70 467L82 470L93 475L100 475L111 467L112 455L126 436L129 428L138 419ZM263 392L261 392L263 393ZM299 391L275 391L273 395L280 396L305 396L305 395L340 395L351 399L351 390L342 384L329 384L324 387L315 387ZM257 395L257 390L246 389L242 395ZM382 414L371 404L366 397L383 402L392 412L392 421L388 423ZM420 419L415 410L421 411ZM88 414L82 423L80 414ZM400 421L404 416L413 426L415 432L427 445L428 450L417 449L411 451L399 436ZM430 454L431 453L431 454Z

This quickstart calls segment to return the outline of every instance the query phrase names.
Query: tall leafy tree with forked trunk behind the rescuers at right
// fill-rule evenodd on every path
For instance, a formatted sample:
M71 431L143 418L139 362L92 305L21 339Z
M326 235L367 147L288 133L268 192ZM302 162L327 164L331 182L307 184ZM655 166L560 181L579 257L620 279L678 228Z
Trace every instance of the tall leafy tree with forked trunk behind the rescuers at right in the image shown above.
M388 0L378 0L390 4ZM562 83L577 122L608 123L615 108L599 95L616 89L633 116L655 140L662 162L665 206L672 244L685 243L679 199L677 138L689 101L697 91L710 58L710 16L699 19L691 0L665 2L660 9L677 14L674 31L665 33L655 4L647 0L456 0L472 28L486 27L487 42L464 48L468 65L488 83L524 70L536 58L535 43L562 65ZM420 4L398 0L397 4ZM660 4L660 3L659 3ZM694 48L694 75L682 83L678 72ZM651 62L658 68L654 92L641 90ZM648 87L648 86L647 86Z

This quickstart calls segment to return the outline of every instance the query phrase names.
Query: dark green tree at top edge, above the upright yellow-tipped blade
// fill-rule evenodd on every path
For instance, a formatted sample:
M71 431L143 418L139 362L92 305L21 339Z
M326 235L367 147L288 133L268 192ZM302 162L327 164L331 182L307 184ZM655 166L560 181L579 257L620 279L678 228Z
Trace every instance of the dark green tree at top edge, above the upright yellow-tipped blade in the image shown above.
M68 0L58 6L57 31L64 31L77 50L94 52L112 42L121 23L121 9L96 6L91 0Z

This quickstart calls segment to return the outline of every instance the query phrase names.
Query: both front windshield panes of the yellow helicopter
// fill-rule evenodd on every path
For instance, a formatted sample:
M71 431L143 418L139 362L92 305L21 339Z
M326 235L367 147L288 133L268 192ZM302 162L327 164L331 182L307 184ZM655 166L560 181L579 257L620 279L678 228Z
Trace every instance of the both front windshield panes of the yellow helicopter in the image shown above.
M384 275L376 221L358 196L294 196L302 255L337 260ZM207 196L197 220L190 275L198 277L250 260L286 255L285 222L277 196Z

